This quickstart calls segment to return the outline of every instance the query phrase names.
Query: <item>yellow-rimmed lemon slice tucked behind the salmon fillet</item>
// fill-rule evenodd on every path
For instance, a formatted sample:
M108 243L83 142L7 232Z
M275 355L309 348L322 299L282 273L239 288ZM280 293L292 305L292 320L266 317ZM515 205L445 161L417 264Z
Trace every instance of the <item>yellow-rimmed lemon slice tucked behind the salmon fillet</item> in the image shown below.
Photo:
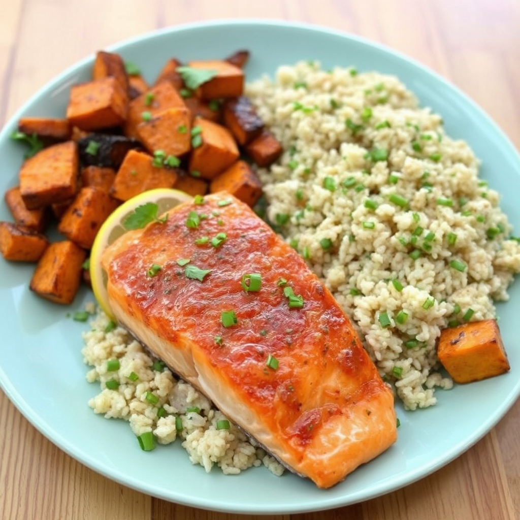
M170 188L158 188L154 190L144 191L139 195L127 200L119 206L103 223L99 229L92 249L90 250L90 281L94 296L99 306L105 311L107 316L114 318L110 303L108 301L107 292L107 273L101 267L101 255L107 247L116 239L126 233L123 227L128 215L132 214L136 207L153 202L158 205L158 215L171 210L183 202L192 201L193 197L184 191Z

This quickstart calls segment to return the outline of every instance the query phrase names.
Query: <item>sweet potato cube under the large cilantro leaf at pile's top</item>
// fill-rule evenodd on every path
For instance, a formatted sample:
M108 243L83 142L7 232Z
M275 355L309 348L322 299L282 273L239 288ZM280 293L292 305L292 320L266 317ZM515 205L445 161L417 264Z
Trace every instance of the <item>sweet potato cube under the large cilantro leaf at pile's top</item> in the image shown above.
M200 85L196 94L202 99L219 99L239 97L244 90L244 72L224 60L190 61L188 67L192 69L214 71L216 74L211 80ZM189 85L188 85L189 86Z

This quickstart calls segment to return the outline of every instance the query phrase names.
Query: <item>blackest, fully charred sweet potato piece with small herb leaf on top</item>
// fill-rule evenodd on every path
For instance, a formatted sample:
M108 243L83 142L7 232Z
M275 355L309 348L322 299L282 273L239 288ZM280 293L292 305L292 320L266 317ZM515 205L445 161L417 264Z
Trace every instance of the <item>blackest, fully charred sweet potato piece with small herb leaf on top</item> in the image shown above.
M101 166L117 170L129 150L141 149L137 139L124 135L88 134L77 141L83 166Z

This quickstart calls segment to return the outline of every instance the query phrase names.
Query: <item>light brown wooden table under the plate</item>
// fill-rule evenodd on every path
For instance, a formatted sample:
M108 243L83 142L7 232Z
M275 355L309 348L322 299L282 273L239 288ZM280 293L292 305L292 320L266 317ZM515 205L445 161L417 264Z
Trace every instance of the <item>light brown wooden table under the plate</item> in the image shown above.
M520 148L518 0L0 0L0 123L95 50L155 28L233 17L317 23L398 49L462 88ZM477 445L420 482L343 509L272 518L520 518L519 430L520 401ZM1 392L0 439L3 520L256 518L192 509L115 484L51 444Z

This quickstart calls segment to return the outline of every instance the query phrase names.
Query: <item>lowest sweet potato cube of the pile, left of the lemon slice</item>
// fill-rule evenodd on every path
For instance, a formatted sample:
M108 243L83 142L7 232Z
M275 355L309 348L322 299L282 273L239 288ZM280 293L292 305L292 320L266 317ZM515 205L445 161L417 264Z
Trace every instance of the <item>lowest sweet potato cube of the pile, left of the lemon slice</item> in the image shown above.
M72 303L80 287L86 255L84 249L70 240L50 243L34 270L31 291L51 302Z

